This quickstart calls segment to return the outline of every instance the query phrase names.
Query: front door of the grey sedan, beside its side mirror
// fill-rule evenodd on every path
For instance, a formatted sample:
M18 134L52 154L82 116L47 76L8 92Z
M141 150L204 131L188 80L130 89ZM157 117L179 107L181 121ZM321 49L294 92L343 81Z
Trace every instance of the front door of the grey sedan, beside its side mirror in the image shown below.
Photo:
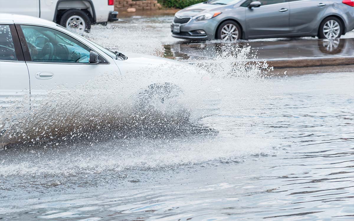
M277 37L289 33L289 2L259 0L260 7L246 9L248 38Z

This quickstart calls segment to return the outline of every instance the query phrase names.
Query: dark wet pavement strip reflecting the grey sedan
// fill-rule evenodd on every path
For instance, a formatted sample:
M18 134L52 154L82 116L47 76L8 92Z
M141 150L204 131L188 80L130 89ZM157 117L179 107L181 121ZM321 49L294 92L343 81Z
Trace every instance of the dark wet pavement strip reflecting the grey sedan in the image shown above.
M292 40L265 42L179 43L165 45L165 57L179 60L212 59L227 47L251 47L249 59L317 58L354 56L354 39Z

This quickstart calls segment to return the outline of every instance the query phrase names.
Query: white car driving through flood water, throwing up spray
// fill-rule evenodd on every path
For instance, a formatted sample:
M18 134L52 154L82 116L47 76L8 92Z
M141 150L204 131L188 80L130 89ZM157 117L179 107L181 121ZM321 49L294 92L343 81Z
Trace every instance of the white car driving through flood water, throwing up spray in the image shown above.
M180 71L173 72L178 67ZM90 116L103 105L106 105L103 109L110 116L122 115L118 109L122 102L133 100L131 94L138 97L138 106L133 105L133 109L139 107L150 112L151 108L158 107L159 111L170 111L173 116L182 113L183 120L208 116L210 113L205 111L191 116L187 111L189 107L186 109L179 105L178 96L185 96L183 102L189 103L195 110L200 102L198 93L205 94L200 87L199 91L192 92L195 85L199 85L198 80L205 81L207 78L205 72L198 74L198 70L193 68L192 65L166 58L112 52L56 23L31 16L0 13L0 144L1 135L15 120L23 121L22 126L29 127L35 117L47 123L61 117L67 118L68 114L63 112L70 109L70 105L89 102L95 100L93 97L100 96L96 101L81 106L84 109L87 107L87 111L80 116ZM50 94L70 90L74 92ZM208 91L211 91L210 88ZM124 99L116 99L122 94L126 95ZM41 99L46 100L41 103ZM62 101L59 102L59 99ZM40 116L33 112L36 108L40 109ZM12 114L6 116L4 113L8 110ZM27 112L32 116L27 118L26 123L24 115L28 115ZM19 126L18 122L15 124ZM66 127L62 123L60 125ZM35 127L40 130L38 125ZM28 133L28 128L20 129L20 133L21 136Z

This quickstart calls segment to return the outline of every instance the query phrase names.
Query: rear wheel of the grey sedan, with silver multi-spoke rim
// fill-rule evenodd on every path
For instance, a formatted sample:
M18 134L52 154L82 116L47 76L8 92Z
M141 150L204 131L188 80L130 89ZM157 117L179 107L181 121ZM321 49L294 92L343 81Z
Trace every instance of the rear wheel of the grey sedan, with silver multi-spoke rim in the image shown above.
M339 20L339 18L337 17L328 17L324 19L320 24L320 28L318 29L318 38L337 39L341 37L342 33L343 33L342 21Z

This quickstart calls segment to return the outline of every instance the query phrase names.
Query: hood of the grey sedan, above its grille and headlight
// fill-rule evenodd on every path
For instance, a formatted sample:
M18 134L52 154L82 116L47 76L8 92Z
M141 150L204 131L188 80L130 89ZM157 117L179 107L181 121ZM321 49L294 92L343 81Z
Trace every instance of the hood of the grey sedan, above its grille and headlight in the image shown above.
M214 11L214 10L221 10L228 5L213 5L213 4L204 4L204 3L199 3L195 4L192 6L189 6L187 8L183 8L182 10L179 10L175 16L176 17L193 17L201 13L206 13L209 11Z

